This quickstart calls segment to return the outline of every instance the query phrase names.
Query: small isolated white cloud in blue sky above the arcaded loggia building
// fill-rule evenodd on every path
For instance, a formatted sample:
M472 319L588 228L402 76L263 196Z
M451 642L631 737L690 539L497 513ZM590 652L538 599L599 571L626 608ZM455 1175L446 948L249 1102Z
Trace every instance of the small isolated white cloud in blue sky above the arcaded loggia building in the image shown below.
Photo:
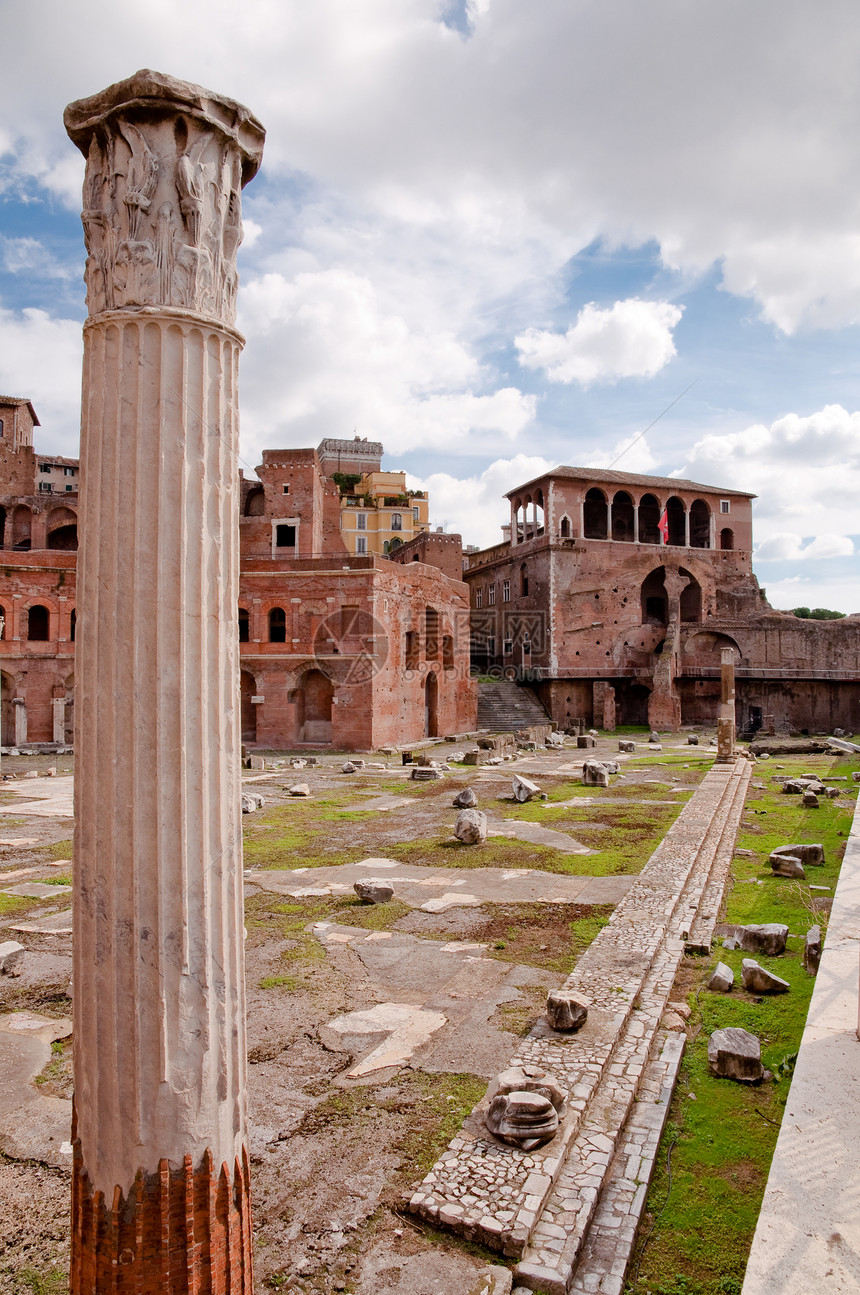
M617 382L653 378L676 354L672 329L683 308L629 298L600 310L583 306L566 333L526 329L515 338L519 363L543 369L552 382Z

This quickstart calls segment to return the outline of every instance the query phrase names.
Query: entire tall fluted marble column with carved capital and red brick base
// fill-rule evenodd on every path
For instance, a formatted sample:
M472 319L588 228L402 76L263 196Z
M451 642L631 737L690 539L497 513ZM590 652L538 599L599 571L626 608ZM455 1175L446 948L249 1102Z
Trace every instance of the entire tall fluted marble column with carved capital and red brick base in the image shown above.
M87 158L71 1291L253 1287L236 250L264 132L141 71Z

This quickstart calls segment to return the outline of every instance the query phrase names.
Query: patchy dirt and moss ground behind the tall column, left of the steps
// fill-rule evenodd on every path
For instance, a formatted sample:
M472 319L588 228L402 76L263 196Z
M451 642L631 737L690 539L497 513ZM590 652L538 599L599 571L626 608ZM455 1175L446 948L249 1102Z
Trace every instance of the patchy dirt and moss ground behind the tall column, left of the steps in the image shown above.
M549 877L637 872L710 765L712 752L681 747L683 741L664 742L662 754L640 747L607 790L582 786L576 764L583 752L571 747L530 754L514 767L455 765L430 783L407 781L408 771L394 758L383 771L357 774L343 774L343 758L325 755L317 768L285 765L271 776L249 776L247 790L260 791L266 804L245 818L246 866L295 872L382 857L416 875L446 866L451 886L461 890L474 868L508 868L512 878L523 869ZM617 751L617 739L606 738L589 755L615 758ZM444 754L444 747L434 751L439 759ZM4 759L3 771L41 773L49 764L61 765L61 776L71 761ZM534 777L548 800L515 805L513 768ZM62 884L71 875L71 818L28 813L18 795L27 781L18 777L0 790L0 809L21 804L19 812L0 815L0 941L17 939L27 949L22 975L0 976L0 1014L65 1018L70 935L12 927L34 918L62 925L70 892L58 890L56 899L4 894L32 882ZM311 798L289 796L295 781L308 783ZM589 852L506 837L460 847L451 834L452 799L466 785L493 820L544 822ZM39 780L34 795L45 795L45 787ZM490 1295L505 1289L497 1269L493 1277L497 1256L417 1222L402 1212L402 1202L506 1064L543 1010L547 989L563 980L610 912L609 904L523 903L503 882L497 897L470 906L427 912L398 899L367 906L351 890L297 897L268 890L256 872L249 875L249 1109L260 1295ZM444 1024L402 1063L352 1075L379 1036L368 1036L356 1050L348 1030L339 1036L332 1023L390 1004ZM69 1098L71 1049L67 1041L52 1048L38 1089ZM0 1153L4 1145L0 1127ZM1 1295L62 1291L67 1263L67 1171L3 1154Z

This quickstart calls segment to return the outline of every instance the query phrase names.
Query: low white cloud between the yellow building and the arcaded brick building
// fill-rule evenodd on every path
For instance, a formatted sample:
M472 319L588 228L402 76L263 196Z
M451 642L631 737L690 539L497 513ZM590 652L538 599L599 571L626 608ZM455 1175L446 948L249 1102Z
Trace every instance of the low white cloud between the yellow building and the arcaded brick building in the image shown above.
M464 544L486 548L501 543L501 527L510 522L505 491L554 466L536 455L515 455L513 458L496 458L475 477L431 473L418 486L430 492L434 526L458 532Z

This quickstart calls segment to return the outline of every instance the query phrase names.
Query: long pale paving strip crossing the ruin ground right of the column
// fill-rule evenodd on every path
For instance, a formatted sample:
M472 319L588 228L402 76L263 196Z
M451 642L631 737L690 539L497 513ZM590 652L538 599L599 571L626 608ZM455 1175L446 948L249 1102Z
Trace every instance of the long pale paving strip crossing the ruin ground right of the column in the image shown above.
M479 850L479 846L474 847ZM385 877L396 899L427 913L477 904L618 904L635 877L570 877L532 868L424 868L396 859L365 859L333 868L249 869L245 881L260 890L302 899L351 895L354 882Z

